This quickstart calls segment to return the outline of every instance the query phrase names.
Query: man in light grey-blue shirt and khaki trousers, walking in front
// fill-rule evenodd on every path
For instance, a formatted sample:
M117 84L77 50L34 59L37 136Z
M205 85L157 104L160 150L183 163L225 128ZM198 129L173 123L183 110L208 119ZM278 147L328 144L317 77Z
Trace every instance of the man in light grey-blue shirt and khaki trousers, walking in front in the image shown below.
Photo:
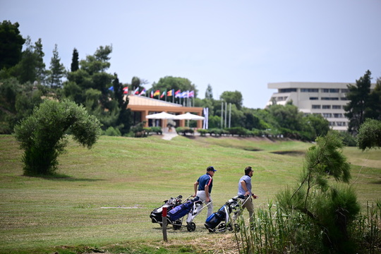
M253 176L253 169L251 167L246 167L245 175L241 177L238 181L238 195L245 195L248 197L245 204L243 204L243 209L247 209L250 216L250 222L253 219L254 214L254 204L252 198L258 198L258 195L255 195L251 192L251 176Z

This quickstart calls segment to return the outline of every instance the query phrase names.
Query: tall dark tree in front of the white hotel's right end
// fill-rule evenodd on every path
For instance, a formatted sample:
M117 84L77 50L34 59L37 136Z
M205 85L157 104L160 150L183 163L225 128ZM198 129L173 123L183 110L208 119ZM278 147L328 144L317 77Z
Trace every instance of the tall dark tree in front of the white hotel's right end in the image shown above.
M365 121L366 111L372 108L370 104L370 71L366 71L363 77L356 80L356 85L347 85L349 92L346 94L349 103L344 106L345 116L349 119L348 131L356 135L358 128Z

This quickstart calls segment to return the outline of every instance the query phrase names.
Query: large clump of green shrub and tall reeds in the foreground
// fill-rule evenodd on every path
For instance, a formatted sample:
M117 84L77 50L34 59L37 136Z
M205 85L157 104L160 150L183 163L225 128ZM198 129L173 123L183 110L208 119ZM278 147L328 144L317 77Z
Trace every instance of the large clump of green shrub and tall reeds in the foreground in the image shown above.
M258 210L237 241L243 253L375 253L380 251L380 202L358 215L360 205L349 183L350 165L339 151L336 131L317 138L306 153L299 183L277 195L277 208ZM241 219L241 228L246 229Z

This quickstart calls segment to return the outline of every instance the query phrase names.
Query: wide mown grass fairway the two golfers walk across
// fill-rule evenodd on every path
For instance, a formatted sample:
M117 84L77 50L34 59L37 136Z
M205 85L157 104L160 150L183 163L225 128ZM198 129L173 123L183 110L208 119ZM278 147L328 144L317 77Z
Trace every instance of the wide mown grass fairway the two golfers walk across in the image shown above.
M102 136L92 150L71 140L59 157L60 177L38 178L23 176L22 151L12 136L1 135L0 253L64 253L62 246L140 243L155 250L163 246L162 230L150 222L150 212L169 197L191 195L207 166L217 169L214 211L236 195L246 166L255 171L253 191L260 196L255 205L266 206L279 190L296 182L310 146L259 138ZM351 184L361 205L379 200L381 151L351 147L344 154L353 165ZM191 233L170 227L169 241L184 246L193 238L227 235L210 235L205 217L203 212L195 218L197 228Z

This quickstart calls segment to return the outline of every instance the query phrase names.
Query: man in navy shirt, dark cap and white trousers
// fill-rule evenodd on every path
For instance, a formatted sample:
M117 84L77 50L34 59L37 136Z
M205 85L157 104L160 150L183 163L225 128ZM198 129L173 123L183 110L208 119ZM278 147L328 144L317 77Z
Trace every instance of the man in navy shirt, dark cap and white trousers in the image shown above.
M198 178L193 184L195 188L195 194L193 197L198 196L201 201L210 202L207 206L207 217L210 217L213 213L213 202L210 193L212 192L214 172L217 171L214 167L207 167L207 173ZM201 208L201 207L200 207Z

